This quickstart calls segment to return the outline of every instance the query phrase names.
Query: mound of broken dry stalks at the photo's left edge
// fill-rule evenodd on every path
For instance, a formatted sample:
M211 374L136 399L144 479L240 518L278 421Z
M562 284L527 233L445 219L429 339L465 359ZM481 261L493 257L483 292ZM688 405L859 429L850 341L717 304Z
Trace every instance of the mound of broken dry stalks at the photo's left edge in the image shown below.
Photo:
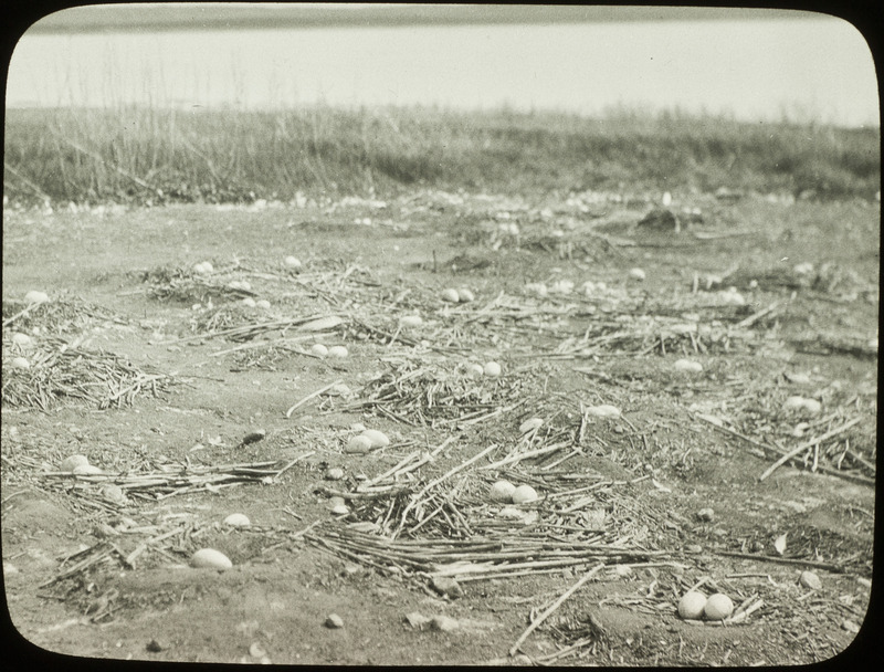
M87 350L62 338L42 338L28 353L29 368L11 366L13 351L3 339L2 403L49 410L62 398L101 409L131 405L135 397L166 391L171 378L147 372L103 350Z

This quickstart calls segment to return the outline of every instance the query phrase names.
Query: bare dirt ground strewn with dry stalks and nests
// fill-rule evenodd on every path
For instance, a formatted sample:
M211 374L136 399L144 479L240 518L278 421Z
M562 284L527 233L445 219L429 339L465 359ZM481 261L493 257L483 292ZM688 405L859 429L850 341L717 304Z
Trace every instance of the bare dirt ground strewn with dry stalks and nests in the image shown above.
M696 195L672 204L677 232L640 225L652 207L7 209L12 624L52 652L150 661L845 651L871 594L880 204ZM30 290L50 301L23 313ZM492 360L497 377L467 369ZM355 423L390 444L351 452ZM74 454L102 473L65 472ZM498 479L540 498L503 511ZM204 547L232 568L191 566ZM693 587L741 612L680 618Z

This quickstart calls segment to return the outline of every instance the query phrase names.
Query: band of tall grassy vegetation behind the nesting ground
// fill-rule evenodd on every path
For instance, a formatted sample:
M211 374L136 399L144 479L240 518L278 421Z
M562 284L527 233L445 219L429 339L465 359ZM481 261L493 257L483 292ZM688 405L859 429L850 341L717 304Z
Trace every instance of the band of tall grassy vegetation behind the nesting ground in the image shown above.
M881 188L877 128L678 113L8 109L4 144L4 193L17 202L288 200L415 186L871 199Z

